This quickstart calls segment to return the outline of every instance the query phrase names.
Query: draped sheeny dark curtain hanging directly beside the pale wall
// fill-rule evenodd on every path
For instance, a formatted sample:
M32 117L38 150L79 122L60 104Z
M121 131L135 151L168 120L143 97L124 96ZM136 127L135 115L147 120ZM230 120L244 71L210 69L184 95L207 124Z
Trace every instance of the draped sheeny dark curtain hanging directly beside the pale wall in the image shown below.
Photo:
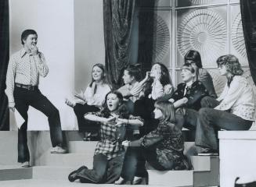
M130 64L132 22L136 0L103 0L105 65L114 88Z

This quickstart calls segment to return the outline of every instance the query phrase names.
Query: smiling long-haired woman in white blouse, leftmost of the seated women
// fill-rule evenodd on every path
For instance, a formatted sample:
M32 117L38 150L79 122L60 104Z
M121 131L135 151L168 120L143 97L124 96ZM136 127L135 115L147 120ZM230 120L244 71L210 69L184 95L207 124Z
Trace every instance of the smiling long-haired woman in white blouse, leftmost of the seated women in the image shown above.
M66 104L74 108L74 113L78 119L78 129L85 133L84 140L96 140L99 132L99 125L95 122L88 122L84 115L90 111L99 111L102 108L103 101L107 93L110 92L110 86L106 81L106 71L102 64L96 64L92 67L92 82L87 86L85 93L75 93L74 97L78 100L72 102L66 99Z

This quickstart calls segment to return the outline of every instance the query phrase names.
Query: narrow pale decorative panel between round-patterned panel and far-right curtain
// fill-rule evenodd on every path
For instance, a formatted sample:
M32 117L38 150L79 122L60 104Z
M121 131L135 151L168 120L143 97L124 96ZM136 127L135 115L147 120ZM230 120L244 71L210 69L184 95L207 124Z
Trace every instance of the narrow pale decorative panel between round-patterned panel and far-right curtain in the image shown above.
M248 65L240 5L230 7L230 32L230 53L239 58L241 65Z

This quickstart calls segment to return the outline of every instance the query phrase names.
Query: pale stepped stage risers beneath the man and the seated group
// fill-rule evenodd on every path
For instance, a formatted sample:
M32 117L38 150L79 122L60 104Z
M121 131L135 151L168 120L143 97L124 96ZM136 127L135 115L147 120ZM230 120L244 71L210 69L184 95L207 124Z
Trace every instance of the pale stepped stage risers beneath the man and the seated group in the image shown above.
M84 142L78 132L66 132L67 154L51 154L49 132L28 132L28 144L31 150L33 168L3 168L1 165L16 164L17 132L0 132L0 180L33 178L44 180L61 180L67 182L71 171L81 165L92 168L96 142ZM32 151L34 150L34 151ZM185 143L186 155L193 155L194 143ZM156 171L148 170L152 186L205 186L218 185L218 157L189 157L193 171ZM2 162L2 164L1 164ZM1 169L2 168L2 169ZM67 182L67 184L70 184ZM99 186L99 185L98 185ZM110 185L111 186L111 185ZM114 186L114 185L113 185Z

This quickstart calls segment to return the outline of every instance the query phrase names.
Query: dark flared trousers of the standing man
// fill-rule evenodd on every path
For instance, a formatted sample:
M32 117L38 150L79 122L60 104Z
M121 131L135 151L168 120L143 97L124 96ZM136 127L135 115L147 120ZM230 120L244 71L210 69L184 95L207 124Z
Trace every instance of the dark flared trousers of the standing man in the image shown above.
M26 90L15 87L14 89L15 108L25 119L18 130L18 162L30 161L30 153L27 146L27 111L29 106L41 111L48 117L52 146L61 146L63 135L59 119L58 109L41 94L40 90Z

